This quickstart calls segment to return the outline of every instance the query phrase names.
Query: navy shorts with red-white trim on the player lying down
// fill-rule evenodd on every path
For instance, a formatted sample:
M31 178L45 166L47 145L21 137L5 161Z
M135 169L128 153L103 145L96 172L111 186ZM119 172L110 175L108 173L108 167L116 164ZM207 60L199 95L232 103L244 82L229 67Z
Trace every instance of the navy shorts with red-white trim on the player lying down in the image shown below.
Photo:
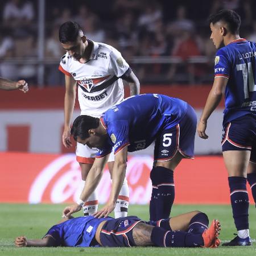
M131 247L135 246L133 228L144 222L137 216L129 216L108 220L102 226L100 240L106 247Z

